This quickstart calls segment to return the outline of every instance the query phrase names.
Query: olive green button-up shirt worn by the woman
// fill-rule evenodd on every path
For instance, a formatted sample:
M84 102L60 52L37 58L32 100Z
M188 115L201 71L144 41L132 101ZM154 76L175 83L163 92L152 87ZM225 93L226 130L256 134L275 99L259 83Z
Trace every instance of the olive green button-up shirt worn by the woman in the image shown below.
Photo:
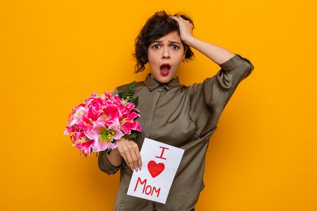
M162 84L150 74L145 81L136 83L134 96L139 96L137 109L141 115L137 121L142 128L136 140L139 149L144 138L149 138L185 151L166 204L127 195L132 170L124 161L120 167L114 167L106 154L99 154L101 171L110 175L121 170L114 210L152 211L153 203L157 211L188 211L194 207L205 186L203 176L209 139L236 87L254 68L240 55L219 66L221 69L216 75L189 87L180 85L178 77ZM114 94L126 86L118 87Z

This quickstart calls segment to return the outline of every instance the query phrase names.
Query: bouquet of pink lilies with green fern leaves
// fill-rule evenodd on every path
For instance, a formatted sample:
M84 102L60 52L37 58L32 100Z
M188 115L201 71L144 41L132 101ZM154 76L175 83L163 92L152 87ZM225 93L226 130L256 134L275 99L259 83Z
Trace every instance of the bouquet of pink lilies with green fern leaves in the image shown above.
M70 135L73 146L76 146L85 157L91 152L110 152L116 148L114 140L122 137L135 140L141 132L140 117L134 111L138 98L132 98L135 81L127 89L115 96L113 92L99 94L94 92L76 105L68 116L68 125L64 135Z

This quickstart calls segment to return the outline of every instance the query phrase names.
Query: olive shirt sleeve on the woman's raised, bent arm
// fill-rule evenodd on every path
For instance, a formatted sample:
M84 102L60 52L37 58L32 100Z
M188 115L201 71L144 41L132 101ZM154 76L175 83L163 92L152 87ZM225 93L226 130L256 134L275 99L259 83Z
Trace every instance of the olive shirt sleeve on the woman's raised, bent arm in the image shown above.
M188 115L196 134L204 136L217 126L220 115L239 83L254 69L250 60L235 55L219 65L216 75L189 87Z

